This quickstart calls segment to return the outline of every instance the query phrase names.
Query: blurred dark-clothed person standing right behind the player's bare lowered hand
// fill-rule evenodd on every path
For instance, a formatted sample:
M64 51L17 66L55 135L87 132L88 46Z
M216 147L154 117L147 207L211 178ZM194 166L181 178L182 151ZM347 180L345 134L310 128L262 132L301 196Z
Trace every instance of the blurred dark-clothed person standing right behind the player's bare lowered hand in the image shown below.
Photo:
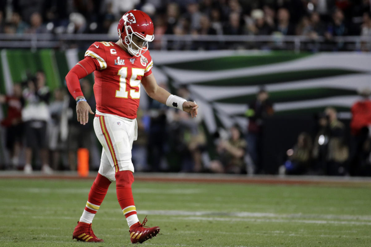
M81 80L81 91L84 94L86 101L91 106L92 111L95 112L95 97L92 93L92 86L88 79ZM89 121L85 125L77 121L76 100L69 97L69 108L72 115L69 119L68 131L68 163L71 171L77 168L77 150L79 148L89 149L89 163L92 163L92 146L96 140L93 130L94 115L89 114Z

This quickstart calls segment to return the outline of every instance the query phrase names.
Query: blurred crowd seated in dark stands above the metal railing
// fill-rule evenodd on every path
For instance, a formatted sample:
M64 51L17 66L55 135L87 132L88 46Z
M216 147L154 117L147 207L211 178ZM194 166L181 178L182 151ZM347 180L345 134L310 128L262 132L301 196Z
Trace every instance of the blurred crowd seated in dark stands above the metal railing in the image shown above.
M371 35L369 0L1 0L0 33L109 33L130 9L155 34Z

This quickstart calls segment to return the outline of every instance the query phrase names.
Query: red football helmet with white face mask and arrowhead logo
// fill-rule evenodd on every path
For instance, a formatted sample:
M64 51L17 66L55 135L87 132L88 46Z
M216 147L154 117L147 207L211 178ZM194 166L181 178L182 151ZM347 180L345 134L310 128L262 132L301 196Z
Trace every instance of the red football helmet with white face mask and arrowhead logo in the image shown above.
M155 38L151 17L141 10L129 10L126 12L118 22L117 31L122 44L127 46L131 55L136 57L145 53L148 50L148 42ZM142 47L135 44L133 34L143 40Z

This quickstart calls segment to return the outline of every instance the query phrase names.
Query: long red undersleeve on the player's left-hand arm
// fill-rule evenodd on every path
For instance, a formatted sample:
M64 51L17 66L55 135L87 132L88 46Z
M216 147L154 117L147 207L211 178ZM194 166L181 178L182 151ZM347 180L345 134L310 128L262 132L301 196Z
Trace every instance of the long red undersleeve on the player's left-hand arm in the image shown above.
M92 57L85 57L68 72L65 79L68 91L73 99L76 99L78 96L83 96L79 80L92 73L94 70L98 70L94 59Z

